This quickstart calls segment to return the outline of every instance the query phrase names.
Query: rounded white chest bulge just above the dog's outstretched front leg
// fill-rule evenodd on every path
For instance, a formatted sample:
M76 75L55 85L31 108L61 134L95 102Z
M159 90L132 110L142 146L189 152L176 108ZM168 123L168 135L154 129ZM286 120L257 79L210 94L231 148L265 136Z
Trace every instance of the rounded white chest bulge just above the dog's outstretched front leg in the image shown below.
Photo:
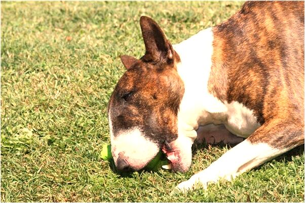
M227 111L223 124L233 134L248 137L260 127L252 110L238 102L224 105Z

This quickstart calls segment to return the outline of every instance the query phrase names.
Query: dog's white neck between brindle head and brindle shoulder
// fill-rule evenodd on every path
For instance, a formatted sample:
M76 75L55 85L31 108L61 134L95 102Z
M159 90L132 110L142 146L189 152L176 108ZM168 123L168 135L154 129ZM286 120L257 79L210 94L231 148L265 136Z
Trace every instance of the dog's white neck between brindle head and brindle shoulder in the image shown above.
M226 106L209 90L213 41L212 28L208 28L173 45L180 56L177 71L184 83L178 122L186 123L195 130L199 125L222 123L227 111ZM225 75L221 76L226 78ZM215 114L217 119L214 118Z

